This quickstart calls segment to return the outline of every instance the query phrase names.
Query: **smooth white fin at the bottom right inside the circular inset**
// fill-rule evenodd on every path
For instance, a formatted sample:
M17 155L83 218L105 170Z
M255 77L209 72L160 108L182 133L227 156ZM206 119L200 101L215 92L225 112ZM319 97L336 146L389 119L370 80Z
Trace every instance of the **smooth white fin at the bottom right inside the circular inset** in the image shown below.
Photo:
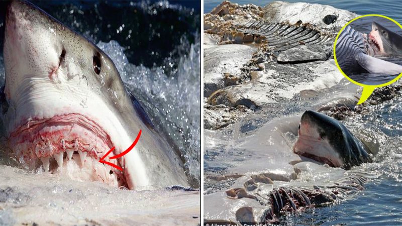
M359 53L356 60L361 67L370 73L394 75L402 72L402 66L377 59L364 53Z

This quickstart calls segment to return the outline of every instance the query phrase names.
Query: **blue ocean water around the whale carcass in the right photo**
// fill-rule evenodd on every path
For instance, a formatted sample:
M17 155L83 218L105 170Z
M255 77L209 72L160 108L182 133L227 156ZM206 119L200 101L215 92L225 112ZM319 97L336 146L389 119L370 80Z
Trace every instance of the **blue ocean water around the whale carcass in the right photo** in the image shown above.
M265 6L272 1L244 1L233 0L231 2L243 4L255 4ZM288 1L303 2L303 1ZM382 14L398 23L402 22L402 5L398 1L307 1L331 5L336 8L349 10L359 15ZM221 1L205 1L204 13L210 12ZM371 30L369 23L358 25L364 31ZM369 29L369 30L368 30ZM396 28L395 28L396 29ZM395 32L400 32L397 29ZM402 34L402 33L401 33ZM300 105L298 105L300 104ZM297 106L289 104L287 114L300 111L305 107L304 103ZM379 153L374 157L374 162L364 164L359 169L377 175L376 179L364 185L364 190L350 199L341 201L327 207L306 209L297 213L289 213L281 218L281 224L286 225L402 225L402 97L397 96L393 100L379 105L369 106L368 113L355 116L343 121L351 131L358 128L366 128L376 135L380 143ZM280 118L280 117L279 117ZM262 121L262 122L261 122ZM235 139L237 136L245 136L243 127L257 131L266 120L255 119L250 123L240 122L238 126L231 128L233 134L228 132L224 137ZM229 130L230 131L230 130ZM236 135L237 134L237 135ZM231 143L236 147L238 144ZM224 147L229 156L235 156L230 146ZM225 151L224 151L225 152ZM206 171L219 172L227 168L227 164L214 162L218 155L209 152L204 156ZM225 158L225 157L223 157ZM235 158L235 157L233 157ZM248 156L247 158L252 158ZM240 161L240 160L239 160ZM214 188L210 188L214 189Z

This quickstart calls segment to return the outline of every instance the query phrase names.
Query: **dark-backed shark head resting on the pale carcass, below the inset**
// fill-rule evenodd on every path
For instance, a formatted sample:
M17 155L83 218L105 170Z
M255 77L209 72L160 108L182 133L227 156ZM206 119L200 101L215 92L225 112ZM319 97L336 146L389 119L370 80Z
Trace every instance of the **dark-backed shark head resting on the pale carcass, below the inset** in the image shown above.
M302 115L293 152L332 167L349 169L370 160L348 129L335 119L316 111Z

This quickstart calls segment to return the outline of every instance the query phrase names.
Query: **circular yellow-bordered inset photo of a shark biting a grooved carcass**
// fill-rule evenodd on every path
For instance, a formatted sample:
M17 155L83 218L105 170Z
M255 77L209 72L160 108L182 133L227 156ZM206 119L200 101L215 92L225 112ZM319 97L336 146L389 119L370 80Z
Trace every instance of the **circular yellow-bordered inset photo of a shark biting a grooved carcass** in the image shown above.
M402 27L381 15L355 18L338 33L334 57L355 84L388 85L402 75Z

